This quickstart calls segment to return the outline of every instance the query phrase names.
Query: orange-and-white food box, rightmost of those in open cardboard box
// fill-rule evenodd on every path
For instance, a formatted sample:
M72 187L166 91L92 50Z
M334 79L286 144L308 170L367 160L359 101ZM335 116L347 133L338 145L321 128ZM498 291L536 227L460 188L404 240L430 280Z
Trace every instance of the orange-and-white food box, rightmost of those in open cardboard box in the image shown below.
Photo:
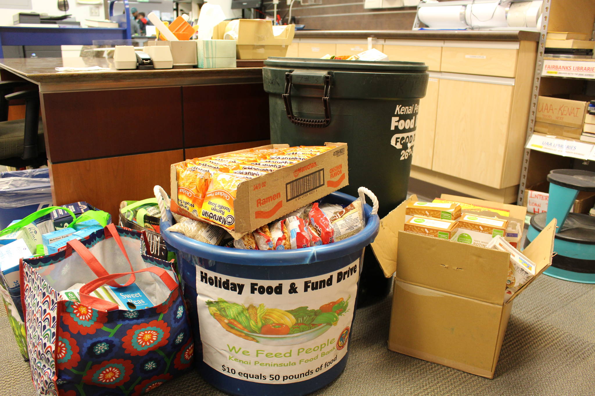
M459 220L459 230L453 240L483 248L493 237L504 236L508 221L495 217L465 214Z

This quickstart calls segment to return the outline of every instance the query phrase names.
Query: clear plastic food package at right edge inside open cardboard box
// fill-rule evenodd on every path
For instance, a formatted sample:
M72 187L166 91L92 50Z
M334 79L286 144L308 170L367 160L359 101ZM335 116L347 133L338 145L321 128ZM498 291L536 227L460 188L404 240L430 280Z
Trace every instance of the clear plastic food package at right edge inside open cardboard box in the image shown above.
M511 254L511 262L506 278L506 290L504 302L507 302L517 290L531 280L536 274L533 261L513 248L502 236L494 237L486 246L488 249L496 249Z

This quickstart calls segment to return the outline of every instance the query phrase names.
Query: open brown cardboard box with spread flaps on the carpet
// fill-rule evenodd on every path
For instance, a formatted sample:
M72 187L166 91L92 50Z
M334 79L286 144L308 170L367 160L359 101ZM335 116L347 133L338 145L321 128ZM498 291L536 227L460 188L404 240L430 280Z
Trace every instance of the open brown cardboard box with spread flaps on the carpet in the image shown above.
M509 210L525 208L481 199L442 198ZM386 277L393 273L389 349L486 378L494 377L512 302L552 264L556 221L523 251L536 276L505 301L508 252L403 231L412 196L383 218L372 249Z

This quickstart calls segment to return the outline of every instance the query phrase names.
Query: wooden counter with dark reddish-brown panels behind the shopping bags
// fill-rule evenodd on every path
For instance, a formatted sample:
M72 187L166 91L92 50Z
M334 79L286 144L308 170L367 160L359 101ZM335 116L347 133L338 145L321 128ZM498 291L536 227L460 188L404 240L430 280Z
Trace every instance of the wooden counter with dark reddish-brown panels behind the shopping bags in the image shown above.
M120 201L152 197L156 184L167 191L172 163L268 144L262 61L146 71L111 61L0 59L1 80L39 85L54 204L87 201L117 216Z

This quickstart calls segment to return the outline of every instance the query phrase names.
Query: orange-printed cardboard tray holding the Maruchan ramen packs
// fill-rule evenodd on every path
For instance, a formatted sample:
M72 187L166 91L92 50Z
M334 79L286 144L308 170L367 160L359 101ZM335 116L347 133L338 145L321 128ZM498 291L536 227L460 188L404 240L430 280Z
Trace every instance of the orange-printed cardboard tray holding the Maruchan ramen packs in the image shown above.
M258 227L348 185L347 144L327 142L325 145L334 148L318 154L318 156L240 183L234 200L235 229L234 232L230 232L231 236L238 239L246 232L252 232ZM289 144L269 144L216 155L246 153L255 148L287 147ZM214 156L201 157L200 159L206 160L211 157ZM171 165L172 211L204 221L198 217L201 208L195 208L191 202L183 202L178 199L176 165L185 162Z

